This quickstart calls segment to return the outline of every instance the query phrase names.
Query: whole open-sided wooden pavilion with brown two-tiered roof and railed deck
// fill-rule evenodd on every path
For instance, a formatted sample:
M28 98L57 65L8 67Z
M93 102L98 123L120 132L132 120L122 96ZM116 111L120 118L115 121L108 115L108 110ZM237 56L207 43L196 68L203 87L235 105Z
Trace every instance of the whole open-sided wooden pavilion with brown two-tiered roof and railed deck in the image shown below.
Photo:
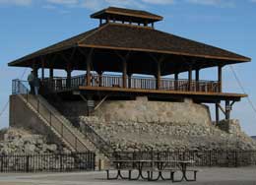
M246 96L223 92L222 71L225 65L249 62L250 58L158 31L155 23L163 18L149 12L109 7L91 18L99 20L98 28L36 51L9 66L30 67L36 76L41 69L44 93L79 94L88 101L137 95L169 101L191 98L198 103L215 103L217 121L219 109L229 119L232 104ZM210 67L218 68L218 80L200 80L200 70ZM45 69L49 69L49 77L45 77ZM55 69L65 70L67 76L54 77ZM84 70L85 75L72 77L74 70ZM179 79L183 72L188 74L185 80ZM162 78L167 75L174 78ZM224 108L221 101L225 101Z

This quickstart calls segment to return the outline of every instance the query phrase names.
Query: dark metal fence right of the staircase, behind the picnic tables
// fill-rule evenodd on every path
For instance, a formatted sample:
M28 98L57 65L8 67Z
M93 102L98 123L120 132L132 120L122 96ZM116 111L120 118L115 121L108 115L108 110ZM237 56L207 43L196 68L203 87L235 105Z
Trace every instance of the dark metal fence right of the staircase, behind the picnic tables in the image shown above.
M122 160L194 160L195 166L238 167L256 165L256 151L185 151L185 152L134 152L114 153ZM175 163L173 163L175 165Z

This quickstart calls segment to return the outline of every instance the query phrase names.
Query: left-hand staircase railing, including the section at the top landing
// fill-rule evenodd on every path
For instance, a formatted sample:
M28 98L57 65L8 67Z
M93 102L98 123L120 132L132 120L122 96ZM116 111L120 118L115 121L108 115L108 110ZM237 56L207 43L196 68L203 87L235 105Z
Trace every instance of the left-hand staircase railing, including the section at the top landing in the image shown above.
M27 84L27 86L26 86ZM26 101L40 114L60 136L67 142L76 152L89 151L86 145L79 139L63 121L54 115L54 113L40 102L36 95L30 94L28 82L19 79L13 80L13 94L21 94Z

